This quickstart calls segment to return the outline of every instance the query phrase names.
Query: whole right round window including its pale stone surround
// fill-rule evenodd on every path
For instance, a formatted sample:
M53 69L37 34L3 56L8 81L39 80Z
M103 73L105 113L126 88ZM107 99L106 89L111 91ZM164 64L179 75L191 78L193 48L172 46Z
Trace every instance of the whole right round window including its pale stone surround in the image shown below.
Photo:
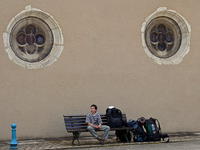
M142 45L158 64L178 64L189 52L191 27L177 12L158 8L142 24Z

